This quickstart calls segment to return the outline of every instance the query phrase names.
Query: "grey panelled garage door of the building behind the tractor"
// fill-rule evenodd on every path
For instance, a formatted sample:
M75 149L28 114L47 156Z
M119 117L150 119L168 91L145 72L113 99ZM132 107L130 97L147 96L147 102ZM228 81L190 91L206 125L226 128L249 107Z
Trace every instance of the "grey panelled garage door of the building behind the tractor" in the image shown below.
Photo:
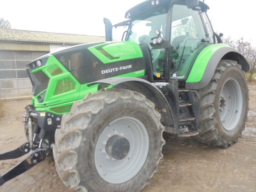
M26 64L48 52L0 50L0 99L30 96Z

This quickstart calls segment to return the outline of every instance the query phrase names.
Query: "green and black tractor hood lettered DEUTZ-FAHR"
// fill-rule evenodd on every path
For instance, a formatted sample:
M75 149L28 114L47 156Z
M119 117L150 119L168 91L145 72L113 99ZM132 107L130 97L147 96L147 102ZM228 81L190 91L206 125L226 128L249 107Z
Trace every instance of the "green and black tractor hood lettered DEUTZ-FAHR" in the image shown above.
M145 75L140 46L128 41L73 46L33 60L27 67L33 85L32 104L57 114L69 111L73 102L87 93L97 92L98 84L92 85L95 81ZM70 108L62 110L67 103Z

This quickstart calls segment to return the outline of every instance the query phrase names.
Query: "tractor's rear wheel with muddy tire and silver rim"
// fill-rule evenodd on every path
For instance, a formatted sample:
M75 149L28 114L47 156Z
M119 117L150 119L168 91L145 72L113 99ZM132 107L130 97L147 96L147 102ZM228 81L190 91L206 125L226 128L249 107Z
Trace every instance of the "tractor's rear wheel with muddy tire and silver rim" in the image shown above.
M200 141L227 147L245 127L248 89L244 72L236 61L220 60L211 82L198 90L201 98Z

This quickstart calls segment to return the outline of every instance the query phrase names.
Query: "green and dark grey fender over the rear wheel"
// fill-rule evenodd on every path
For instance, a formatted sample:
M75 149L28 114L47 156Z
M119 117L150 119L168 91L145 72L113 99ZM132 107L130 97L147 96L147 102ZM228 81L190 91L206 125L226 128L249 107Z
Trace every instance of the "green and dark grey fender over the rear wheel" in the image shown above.
M202 89L212 79L220 60L235 60L242 70L249 71L250 66L243 55L226 44L213 44L205 47L197 56L186 80L186 89Z

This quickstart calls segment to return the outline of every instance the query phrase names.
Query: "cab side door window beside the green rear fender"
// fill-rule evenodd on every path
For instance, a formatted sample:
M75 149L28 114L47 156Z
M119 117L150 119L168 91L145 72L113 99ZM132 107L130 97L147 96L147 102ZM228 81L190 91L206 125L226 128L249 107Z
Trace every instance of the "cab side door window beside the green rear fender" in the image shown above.
M210 25L208 26L208 28ZM199 12L188 9L186 5L175 4L172 8L171 29L171 76L184 79L197 52L208 43ZM213 42L213 40L212 40Z

